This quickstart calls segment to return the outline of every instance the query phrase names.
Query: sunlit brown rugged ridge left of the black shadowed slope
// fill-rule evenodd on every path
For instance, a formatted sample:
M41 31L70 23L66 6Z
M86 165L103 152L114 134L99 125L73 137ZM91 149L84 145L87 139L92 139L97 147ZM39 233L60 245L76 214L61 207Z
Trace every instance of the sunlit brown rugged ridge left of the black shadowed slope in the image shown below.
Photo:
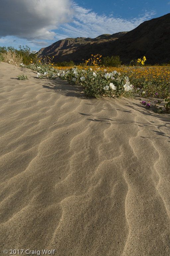
M44 58L54 56L53 62L62 62L73 60L75 63L81 63L89 59L91 54L98 54L106 43L111 44L127 32L119 32L113 35L104 34L96 38L66 38L59 40L48 47L40 49L36 53L39 57Z

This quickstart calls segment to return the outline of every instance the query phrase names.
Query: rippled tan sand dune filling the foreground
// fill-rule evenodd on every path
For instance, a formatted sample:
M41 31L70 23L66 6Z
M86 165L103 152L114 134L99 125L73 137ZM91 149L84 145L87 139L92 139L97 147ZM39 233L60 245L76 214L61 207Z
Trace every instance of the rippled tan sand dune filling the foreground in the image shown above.
M170 255L170 114L3 62L0 102L0 255Z

